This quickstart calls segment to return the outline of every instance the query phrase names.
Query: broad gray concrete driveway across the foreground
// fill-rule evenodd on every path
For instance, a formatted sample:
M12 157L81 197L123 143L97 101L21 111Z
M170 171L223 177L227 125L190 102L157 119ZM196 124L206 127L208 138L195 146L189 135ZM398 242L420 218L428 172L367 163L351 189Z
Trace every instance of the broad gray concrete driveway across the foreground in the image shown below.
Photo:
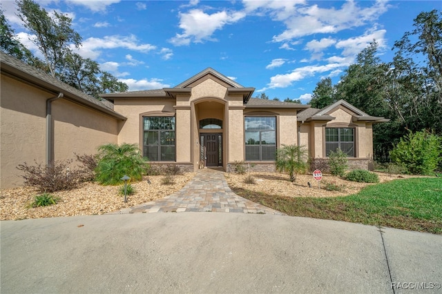
M361 224L137 213L0 226L2 294L394 293L390 275L442 282L442 236Z

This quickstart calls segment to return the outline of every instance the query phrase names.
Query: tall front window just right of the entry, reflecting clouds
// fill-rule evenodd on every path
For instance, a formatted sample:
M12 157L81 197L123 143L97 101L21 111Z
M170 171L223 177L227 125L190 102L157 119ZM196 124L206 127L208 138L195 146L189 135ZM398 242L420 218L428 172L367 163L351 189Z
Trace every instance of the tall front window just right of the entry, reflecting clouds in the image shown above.
M246 160L275 160L276 117L245 117Z

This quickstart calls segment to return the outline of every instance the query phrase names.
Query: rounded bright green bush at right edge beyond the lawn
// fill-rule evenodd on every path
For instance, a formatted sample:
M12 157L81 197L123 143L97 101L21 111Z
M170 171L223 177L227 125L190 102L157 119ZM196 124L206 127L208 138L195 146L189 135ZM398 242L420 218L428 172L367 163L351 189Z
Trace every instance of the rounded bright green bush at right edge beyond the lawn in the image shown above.
M442 138L422 130L401 138L390 156L413 175L427 175L438 167L442 157Z

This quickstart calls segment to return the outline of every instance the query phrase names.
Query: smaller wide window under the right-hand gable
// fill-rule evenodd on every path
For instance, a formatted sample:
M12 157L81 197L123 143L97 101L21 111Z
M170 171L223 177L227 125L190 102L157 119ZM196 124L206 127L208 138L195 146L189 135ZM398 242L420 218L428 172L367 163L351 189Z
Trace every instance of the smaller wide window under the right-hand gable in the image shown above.
M354 157L354 128L325 128L325 156L337 148Z

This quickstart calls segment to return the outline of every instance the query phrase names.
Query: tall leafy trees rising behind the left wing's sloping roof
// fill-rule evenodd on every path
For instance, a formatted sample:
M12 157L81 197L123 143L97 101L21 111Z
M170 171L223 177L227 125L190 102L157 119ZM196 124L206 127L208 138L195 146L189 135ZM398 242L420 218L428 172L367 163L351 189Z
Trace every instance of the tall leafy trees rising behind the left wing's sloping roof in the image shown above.
M3 38L3 28L8 32L12 30L6 25L3 26L2 19L1 41L8 44L8 50L5 52L97 99L102 93L128 90L126 84L118 81L109 72L100 70L96 61L84 59L73 52L73 48L81 46L81 36L73 30L72 19L67 14L57 11L49 13L32 0L18 0L17 6L17 16L23 22L23 26L31 32L30 41L39 48L44 61L33 57L30 51L10 34L4 34L6 38Z

